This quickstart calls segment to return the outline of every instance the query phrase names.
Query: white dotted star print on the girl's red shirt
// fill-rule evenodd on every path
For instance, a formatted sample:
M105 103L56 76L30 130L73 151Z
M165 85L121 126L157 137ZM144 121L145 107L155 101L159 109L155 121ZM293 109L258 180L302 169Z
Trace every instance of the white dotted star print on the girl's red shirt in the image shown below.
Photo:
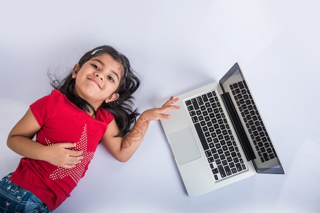
M53 145L49 140L47 140L48 146ZM58 167L53 173L50 175L50 179L55 180L55 179L62 179L65 176L70 176L77 184L79 180L81 179L85 166L87 163L89 163L93 157L95 152L88 152L87 151L87 129L86 125L83 127L83 132L80 138L80 141L77 143L77 146L75 147L75 150L82 150L82 160L81 163L77 164L75 167L71 169L65 169Z

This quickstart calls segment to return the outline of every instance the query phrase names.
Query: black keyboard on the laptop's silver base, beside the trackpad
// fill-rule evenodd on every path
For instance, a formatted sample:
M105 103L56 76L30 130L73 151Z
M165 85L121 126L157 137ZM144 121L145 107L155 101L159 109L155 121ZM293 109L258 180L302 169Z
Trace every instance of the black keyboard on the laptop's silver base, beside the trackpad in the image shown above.
M186 102L215 180L246 170L243 156L234 140L215 91Z

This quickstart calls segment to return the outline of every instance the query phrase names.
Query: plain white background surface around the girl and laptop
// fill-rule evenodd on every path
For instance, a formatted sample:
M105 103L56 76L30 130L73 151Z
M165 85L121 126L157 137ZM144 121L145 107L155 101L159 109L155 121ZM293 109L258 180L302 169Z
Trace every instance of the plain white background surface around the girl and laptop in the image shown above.
M99 146L55 212L320 212L318 1L2 1L0 175L20 156L6 146L29 104L104 44L143 76L140 112L219 81L239 62L286 169L189 198L161 124L127 163Z

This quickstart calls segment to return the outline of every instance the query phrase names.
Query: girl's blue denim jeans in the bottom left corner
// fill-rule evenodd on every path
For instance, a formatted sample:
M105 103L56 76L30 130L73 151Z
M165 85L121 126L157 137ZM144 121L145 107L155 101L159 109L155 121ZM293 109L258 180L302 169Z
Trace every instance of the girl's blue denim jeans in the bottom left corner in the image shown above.
M0 212L52 212L34 194L10 181L11 174L0 180Z

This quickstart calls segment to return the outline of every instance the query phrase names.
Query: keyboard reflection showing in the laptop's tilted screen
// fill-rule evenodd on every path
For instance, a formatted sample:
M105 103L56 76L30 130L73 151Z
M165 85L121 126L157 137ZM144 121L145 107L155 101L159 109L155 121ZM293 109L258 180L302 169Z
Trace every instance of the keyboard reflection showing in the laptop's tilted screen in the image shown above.
M249 132L250 139L255 145L256 153L260 157L260 161L264 163L277 157L268 132L245 81L230 85L230 89L237 102L237 107Z

